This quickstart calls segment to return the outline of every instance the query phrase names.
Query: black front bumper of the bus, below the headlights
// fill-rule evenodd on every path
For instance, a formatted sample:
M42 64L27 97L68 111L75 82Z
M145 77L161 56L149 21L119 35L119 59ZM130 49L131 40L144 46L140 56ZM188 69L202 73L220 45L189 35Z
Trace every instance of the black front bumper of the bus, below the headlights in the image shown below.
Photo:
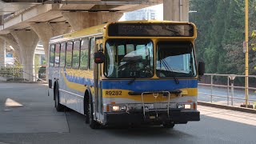
M200 121L200 112L198 110L170 110L146 113L142 112L110 112L104 114L105 125L117 124L149 124L161 125L163 122L187 123L189 121Z

